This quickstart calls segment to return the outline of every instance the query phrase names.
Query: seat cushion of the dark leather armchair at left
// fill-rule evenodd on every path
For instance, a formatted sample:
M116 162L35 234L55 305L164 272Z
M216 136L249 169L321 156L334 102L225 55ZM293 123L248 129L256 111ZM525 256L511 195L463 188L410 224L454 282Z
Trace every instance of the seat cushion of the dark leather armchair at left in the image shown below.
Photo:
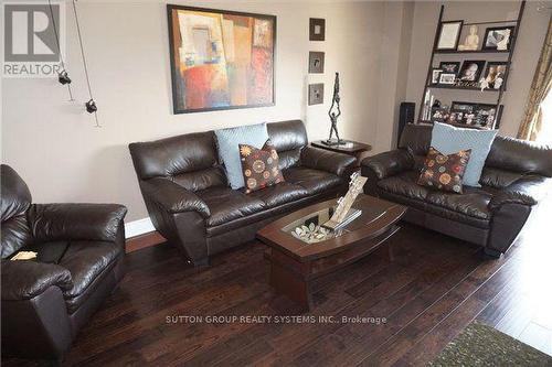
M42 246L47 246L43 244ZM110 268L110 265L121 256L124 249L114 242L74 241L67 247L59 265L71 272L73 288L64 291L70 312L76 310L86 298L89 285Z

